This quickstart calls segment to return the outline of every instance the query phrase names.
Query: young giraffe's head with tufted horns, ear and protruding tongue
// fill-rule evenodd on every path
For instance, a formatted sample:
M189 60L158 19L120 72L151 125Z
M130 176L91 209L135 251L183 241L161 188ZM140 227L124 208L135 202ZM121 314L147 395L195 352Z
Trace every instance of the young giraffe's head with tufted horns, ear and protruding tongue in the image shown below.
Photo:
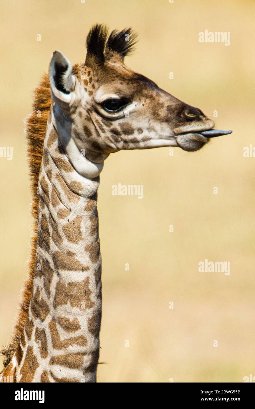
M69 121L79 151L96 163L121 149L177 146L196 151L210 137L214 122L126 67L136 36L95 25L87 37L86 62L72 67L59 51L52 54L50 84L56 115Z

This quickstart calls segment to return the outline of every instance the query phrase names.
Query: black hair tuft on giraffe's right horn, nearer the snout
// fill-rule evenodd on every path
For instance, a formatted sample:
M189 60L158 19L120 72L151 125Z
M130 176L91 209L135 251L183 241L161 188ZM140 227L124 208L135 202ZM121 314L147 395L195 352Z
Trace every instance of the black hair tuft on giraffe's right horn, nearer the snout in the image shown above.
M136 42L137 34L129 27L122 31L113 30L107 40L106 47L124 59L134 50Z

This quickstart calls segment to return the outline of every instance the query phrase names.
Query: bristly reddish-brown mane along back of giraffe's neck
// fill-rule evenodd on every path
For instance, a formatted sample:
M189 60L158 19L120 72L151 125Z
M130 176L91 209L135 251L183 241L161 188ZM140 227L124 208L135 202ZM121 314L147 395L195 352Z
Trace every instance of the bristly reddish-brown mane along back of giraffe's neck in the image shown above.
M29 178L32 188L32 216L34 217L34 234L32 236L32 245L29 259L29 276L23 288L22 301L20 303L20 310L18 313L14 336L12 337L9 346L3 348L0 351L0 353L5 355L5 367L8 365L18 347L25 321L27 319L29 303L32 294L38 220L38 194L36 191L38 187L38 177L43 156L43 141L45 138L47 119L50 112L51 103L52 99L50 95L50 81L48 75L44 74L40 84L34 90L32 113L29 115L26 121Z

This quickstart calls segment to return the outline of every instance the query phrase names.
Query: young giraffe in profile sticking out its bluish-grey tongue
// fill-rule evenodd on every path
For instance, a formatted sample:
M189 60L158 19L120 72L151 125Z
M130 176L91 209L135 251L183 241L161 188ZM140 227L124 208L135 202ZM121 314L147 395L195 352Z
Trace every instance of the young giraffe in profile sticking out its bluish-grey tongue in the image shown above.
M102 312L97 189L121 149L196 151L215 130L124 64L136 35L95 25L85 63L55 51L27 119L35 219L29 279L1 382L96 382Z

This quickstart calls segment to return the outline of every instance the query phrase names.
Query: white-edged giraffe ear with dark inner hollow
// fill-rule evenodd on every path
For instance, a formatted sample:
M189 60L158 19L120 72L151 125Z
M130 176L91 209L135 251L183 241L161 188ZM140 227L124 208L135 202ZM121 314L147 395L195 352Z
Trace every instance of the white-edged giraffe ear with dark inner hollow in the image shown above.
M75 87L75 76L72 75L72 64L60 52L54 51L49 67L52 98L57 105L66 105L72 101Z

